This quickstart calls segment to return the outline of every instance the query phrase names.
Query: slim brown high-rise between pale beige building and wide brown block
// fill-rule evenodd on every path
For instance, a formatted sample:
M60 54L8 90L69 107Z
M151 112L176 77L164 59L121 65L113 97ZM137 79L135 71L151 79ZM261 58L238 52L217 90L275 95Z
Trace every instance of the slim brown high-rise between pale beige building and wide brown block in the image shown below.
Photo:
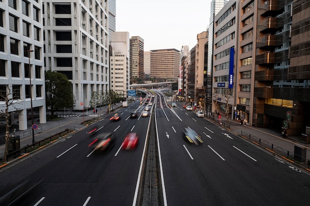
M144 40L139 36L130 38L130 80L144 79Z

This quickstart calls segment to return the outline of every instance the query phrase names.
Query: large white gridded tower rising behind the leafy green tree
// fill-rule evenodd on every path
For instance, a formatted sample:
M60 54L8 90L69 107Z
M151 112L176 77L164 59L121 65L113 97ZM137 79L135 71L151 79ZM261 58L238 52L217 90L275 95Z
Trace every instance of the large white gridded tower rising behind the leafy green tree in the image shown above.
M109 89L108 0L44 0L46 70L72 82L75 108Z

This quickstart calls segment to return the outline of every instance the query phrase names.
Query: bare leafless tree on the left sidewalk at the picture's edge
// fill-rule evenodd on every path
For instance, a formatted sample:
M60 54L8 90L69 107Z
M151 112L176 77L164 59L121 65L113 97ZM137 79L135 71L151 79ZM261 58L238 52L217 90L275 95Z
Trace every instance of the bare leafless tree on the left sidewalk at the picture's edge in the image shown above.
M5 119L5 149L4 149L4 161L7 161L8 154L8 143L10 140L10 126L12 122L10 121L11 116L14 113L17 113L19 108L17 104L20 104L20 93L19 90L13 90L12 85L1 85L0 87L0 102L3 102L5 105L0 105L0 117ZM9 109L12 112L9 112Z

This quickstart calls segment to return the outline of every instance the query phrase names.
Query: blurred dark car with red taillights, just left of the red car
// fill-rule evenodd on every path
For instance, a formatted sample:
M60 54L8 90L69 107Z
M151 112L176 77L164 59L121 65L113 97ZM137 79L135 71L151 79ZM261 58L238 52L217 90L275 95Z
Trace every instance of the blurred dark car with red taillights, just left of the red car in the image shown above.
M115 144L115 136L111 132L100 133L96 136L88 147L93 148L95 152L103 152Z

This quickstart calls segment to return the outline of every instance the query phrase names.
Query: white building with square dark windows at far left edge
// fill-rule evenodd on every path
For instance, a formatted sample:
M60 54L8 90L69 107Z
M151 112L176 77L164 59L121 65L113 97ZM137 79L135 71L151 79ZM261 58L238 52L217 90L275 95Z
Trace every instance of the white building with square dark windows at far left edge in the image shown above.
M32 114L46 123L43 38L41 1L0 2L0 91L13 100L8 112L18 110L11 118L18 118L19 130L31 128ZM5 107L0 98L0 109Z

